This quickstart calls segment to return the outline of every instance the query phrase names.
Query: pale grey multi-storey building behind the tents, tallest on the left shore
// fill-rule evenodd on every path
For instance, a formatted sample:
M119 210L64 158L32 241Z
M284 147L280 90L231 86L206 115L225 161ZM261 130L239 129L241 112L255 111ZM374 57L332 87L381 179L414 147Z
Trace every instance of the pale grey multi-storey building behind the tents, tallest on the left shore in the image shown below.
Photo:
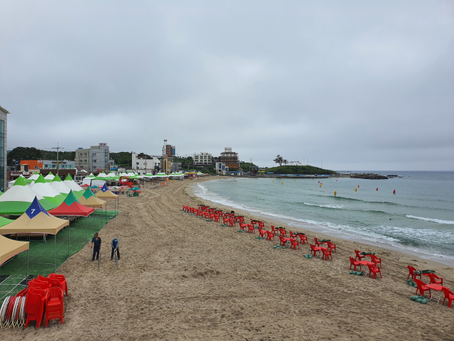
M90 148L78 148L74 161L76 168L87 172L109 171L109 146L100 143Z

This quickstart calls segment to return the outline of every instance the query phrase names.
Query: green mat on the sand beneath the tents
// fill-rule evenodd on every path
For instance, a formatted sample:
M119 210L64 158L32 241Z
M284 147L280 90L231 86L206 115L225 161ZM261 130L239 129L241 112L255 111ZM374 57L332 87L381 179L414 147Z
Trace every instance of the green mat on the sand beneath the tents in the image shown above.
M79 217L70 224L70 229L65 227L57 233L55 247L55 269L73 254L80 251L87 239L92 239L93 233L99 231L106 221L116 217L116 211L95 210L86 221L85 217ZM107 217L107 218L106 218ZM86 239L87 227L87 239ZM70 231L70 247L68 254L68 230ZM25 237L19 234L18 240L25 241ZM87 262L89 255L87 254ZM14 295L26 287L27 252L21 252L0 266L0 306L6 296ZM54 272L54 236L48 234L46 242L43 237L33 237L30 241L28 278L32 276L48 276Z

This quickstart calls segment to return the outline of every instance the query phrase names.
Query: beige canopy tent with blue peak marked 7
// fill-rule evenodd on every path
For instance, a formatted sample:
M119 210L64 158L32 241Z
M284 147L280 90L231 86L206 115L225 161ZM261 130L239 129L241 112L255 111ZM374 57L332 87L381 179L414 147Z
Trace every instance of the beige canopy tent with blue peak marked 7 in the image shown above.
M0 227L0 234L29 234L29 233L42 233L54 234L54 271L56 266L55 250L56 250L56 234L65 226L70 224L69 220L63 220L49 213L35 197L30 207L26 212L18 217L16 220ZM68 257L70 256L70 232L68 231Z

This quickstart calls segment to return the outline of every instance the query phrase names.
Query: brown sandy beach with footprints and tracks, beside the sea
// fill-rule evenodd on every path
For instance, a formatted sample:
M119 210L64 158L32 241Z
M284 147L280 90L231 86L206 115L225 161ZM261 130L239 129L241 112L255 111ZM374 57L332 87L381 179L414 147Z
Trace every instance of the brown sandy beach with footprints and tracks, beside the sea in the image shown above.
M273 249L277 238L258 240L258 234L181 212L182 205L204 202L188 187L204 180L121 197L121 212L99 232L101 270L90 264L86 246L58 271L70 293L65 323L0 330L0 340L454 339L454 307L415 303L416 289L406 283L411 264L436 270L453 290L450 266L345 239L333 240L333 261L305 259L307 244ZM260 220L266 229L273 224ZM306 234L311 242L323 237ZM114 237L120 241L118 270L110 261ZM354 249L382 258L382 279L348 274ZM443 301L443 293L434 295Z

